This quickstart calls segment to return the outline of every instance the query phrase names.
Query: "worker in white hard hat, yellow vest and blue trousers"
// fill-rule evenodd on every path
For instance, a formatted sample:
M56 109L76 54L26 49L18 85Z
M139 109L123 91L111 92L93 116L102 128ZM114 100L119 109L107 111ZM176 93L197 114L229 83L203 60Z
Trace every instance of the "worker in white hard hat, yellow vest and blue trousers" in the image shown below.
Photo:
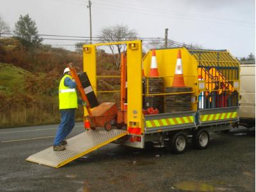
M65 150L67 145L65 138L75 125L77 103L85 105L85 102L82 102L82 100L77 100L76 82L70 76L70 69L68 67L65 68L63 75L59 86L61 123L54 138L53 150Z

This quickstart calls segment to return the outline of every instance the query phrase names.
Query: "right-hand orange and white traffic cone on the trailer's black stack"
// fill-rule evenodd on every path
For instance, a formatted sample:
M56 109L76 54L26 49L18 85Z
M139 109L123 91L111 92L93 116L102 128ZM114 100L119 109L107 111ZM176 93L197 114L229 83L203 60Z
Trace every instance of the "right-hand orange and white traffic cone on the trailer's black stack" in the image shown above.
M175 87L184 87L185 86L184 77L183 77L183 70L182 70L182 61L181 61L180 49L179 49L178 55L177 55L177 62L176 62L176 67L175 67L175 73L174 73L172 86L175 86Z

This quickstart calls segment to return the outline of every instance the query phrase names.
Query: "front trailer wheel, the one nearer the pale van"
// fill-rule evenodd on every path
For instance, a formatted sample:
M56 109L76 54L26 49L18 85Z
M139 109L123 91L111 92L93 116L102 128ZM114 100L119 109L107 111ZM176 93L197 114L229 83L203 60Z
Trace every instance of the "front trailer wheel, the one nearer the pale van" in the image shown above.
M197 149L205 149L210 142L209 132L205 129L201 129L194 134L194 144Z

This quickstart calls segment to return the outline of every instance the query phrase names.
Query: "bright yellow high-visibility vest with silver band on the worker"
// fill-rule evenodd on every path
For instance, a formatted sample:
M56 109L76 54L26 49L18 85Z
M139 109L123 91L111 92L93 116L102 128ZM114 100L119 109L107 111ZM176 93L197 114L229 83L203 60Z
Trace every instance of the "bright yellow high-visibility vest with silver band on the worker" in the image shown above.
M70 89L68 86L64 85L64 80L66 77L72 79L71 76L65 75L62 77L59 86L59 101L60 109L74 109L77 108L77 95L76 89Z

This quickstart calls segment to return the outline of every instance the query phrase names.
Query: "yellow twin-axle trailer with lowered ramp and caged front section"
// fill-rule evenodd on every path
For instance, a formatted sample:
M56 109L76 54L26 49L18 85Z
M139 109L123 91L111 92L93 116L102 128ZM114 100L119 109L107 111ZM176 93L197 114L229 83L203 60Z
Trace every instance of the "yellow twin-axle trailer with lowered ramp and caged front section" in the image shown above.
M97 47L116 44L127 47L125 64L123 63L125 67L123 66L121 76L117 77L121 78L121 88L120 90L97 90L99 78L115 77L97 76ZM150 77L152 50L142 58L141 40L84 45L83 67L90 79L91 90L95 95L99 92L121 92L121 106L116 114L116 123L110 131L105 131L102 127L86 129L81 136L76 136L76 140L72 138L67 140L67 150L54 152L52 147L49 147L28 157L27 160L58 168L111 142L136 148L145 148L147 143L154 143L158 147L167 146L173 153L180 154L186 150L188 136L192 136L196 148L204 149L209 144L209 132L229 130L231 124L239 121L239 62L230 52L192 50L185 47L155 51L159 76ZM150 78L163 78L164 88L172 87L177 52L181 52L182 55L184 83L191 88L191 91L150 93L148 88ZM143 70L145 77L143 77ZM146 89L143 89L143 82ZM127 93L126 98L125 93ZM152 115L143 113L145 97L164 98L168 95L180 94L190 95L189 111L172 113L161 111ZM84 108L84 121L88 121L86 108ZM80 149L76 150L72 143L76 143ZM76 152L70 156L70 151ZM53 161L55 163L51 163Z

